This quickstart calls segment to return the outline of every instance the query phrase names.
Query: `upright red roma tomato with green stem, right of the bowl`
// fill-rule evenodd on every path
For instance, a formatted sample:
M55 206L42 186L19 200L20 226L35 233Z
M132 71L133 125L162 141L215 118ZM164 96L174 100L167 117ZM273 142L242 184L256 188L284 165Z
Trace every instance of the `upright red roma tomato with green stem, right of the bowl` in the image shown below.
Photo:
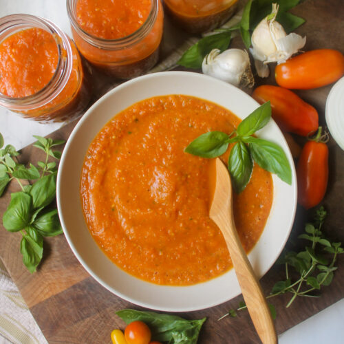
M321 136L321 127L319 133ZM308 141L297 164L298 202L306 209L318 205L326 192L328 179L328 148L320 140Z

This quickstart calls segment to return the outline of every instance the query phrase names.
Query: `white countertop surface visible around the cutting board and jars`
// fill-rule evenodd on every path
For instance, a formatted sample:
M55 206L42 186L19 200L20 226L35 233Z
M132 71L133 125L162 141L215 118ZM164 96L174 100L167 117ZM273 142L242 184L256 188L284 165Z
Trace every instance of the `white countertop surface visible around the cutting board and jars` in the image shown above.
M67 34L70 34L65 0L1 0L0 17L14 13L35 14L54 21ZM61 124L42 125L25 120L17 114L0 107L0 132L7 144L17 149L34 142L32 135L46 136L61 127ZM343 267L341 267L343 268ZM1 297L1 294L0 294ZM4 312L4 310L0 310ZM279 337L281 344L323 344L343 343L344 300L338 301L310 319L292 327ZM0 338L1 342L1 338ZM8 343L8 342L4 342Z

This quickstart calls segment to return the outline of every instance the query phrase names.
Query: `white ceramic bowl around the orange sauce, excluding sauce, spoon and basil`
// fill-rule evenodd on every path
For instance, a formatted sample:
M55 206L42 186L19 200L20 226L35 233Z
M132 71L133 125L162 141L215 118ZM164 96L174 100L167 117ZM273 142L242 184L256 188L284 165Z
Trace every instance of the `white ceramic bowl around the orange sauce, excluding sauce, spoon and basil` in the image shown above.
M232 269L224 275L193 286L158 286L142 281L118 268L98 247L89 233L80 202L80 173L89 144L103 126L122 111L145 98L186 94L210 100L245 118L259 105L237 87L191 72L162 72L127 81L98 100L81 118L67 141L57 179L57 204L65 237L74 255L96 281L114 294L146 308L166 312L200 310L223 303L240 294ZM292 166L292 185L275 175L274 199L264 232L248 255L260 278L281 253L297 204L297 183L292 155L274 121L258 136L278 143Z

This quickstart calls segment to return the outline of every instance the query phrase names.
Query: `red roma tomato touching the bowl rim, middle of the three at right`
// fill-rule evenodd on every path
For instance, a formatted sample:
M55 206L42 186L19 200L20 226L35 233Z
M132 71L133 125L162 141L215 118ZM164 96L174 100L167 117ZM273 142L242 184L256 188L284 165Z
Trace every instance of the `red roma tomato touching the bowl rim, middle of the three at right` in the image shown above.
M262 85L255 89L252 97L259 104L270 100L272 118L284 131L308 136L319 127L318 112L289 89Z

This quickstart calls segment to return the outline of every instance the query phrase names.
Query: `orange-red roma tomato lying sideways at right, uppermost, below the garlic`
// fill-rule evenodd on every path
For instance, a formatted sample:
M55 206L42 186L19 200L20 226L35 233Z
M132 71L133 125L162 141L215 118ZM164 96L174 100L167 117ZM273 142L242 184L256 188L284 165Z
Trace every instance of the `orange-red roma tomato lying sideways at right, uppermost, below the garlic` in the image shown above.
M332 49L304 52L277 65L276 82L290 89L312 89L334 83L344 75L344 56Z

